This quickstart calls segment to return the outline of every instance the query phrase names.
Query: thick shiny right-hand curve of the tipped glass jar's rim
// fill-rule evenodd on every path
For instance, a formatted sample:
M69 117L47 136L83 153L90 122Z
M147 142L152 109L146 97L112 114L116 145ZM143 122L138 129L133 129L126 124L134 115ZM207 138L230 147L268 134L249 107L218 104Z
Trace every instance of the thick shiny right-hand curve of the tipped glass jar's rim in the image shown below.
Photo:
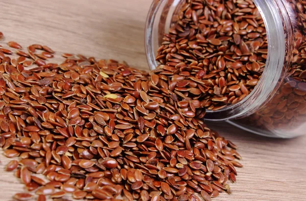
M247 117L268 102L277 91L283 75L287 73L292 51L293 30L286 5L277 0L253 0L264 20L268 37L265 70L256 88L241 102L217 111L207 111L211 121ZM287 55L285 55L285 53Z

